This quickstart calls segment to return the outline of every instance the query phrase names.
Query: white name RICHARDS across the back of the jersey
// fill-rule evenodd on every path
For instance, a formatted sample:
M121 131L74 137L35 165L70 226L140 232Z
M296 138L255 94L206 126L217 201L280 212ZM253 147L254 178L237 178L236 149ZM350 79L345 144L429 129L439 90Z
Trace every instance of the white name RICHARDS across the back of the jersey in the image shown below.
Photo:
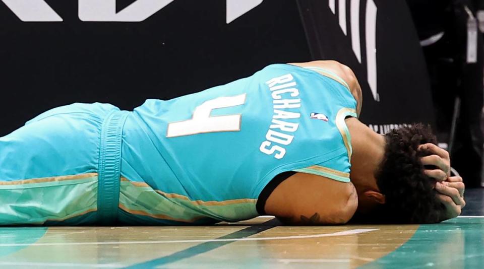
M299 90L291 74L273 78L266 84L271 91L274 115L266 133L266 141L262 142L259 149L276 159L282 159L286 154L285 146L291 144L293 133L299 127L299 123L293 120L301 117L298 112L301 99L297 98Z

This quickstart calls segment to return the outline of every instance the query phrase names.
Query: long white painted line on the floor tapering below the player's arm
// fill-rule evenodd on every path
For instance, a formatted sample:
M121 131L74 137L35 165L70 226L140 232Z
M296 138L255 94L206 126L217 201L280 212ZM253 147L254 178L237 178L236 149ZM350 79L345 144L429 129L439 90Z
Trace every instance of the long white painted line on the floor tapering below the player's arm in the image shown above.
M120 241L120 242L67 242L67 243L33 243L33 244L0 244L0 247L13 246L86 246L86 245L128 245L128 244L174 244L174 243L206 243L206 242L231 242L231 241L262 241L262 240L287 240L287 239L306 239L321 238L331 236L343 236L372 232L380 229L352 229L328 234L294 235L294 236L274 236L274 237L248 237L233 239L194 239L194 240L165 240L165 241Z

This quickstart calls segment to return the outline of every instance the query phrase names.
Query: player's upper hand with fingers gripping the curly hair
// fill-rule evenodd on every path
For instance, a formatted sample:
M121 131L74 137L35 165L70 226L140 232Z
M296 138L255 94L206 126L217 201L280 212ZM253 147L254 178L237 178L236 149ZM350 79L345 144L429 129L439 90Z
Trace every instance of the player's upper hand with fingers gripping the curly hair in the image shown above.
M426 151L431 155L421 157L420 161L426 167L423 172L437 181L445 181L450 177L450 156L449 153L432 143L422 144L419 151Z

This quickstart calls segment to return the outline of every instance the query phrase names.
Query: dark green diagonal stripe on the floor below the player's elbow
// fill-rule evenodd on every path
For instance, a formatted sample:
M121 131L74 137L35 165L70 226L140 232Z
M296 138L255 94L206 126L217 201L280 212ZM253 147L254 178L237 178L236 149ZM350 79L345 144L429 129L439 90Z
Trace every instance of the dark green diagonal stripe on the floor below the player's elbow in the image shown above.
M249 237L249 236L267 231L269 229L272 229L272 228L276 227L278 224L279 224L278 220L272 219L272 220L269 220L269 221L263 223L262 225L259 224L259 225L249 226L245 229L233 232L231 234L221 236L217 239L245 238L245 237ZM155 267L165 265L165 264L168 264L168 263L173 263L173 262L176 262L176 261L179 261L179 260L182 260L182 259L191 258L191 257L196 256L198 254L202 254L202 253L214 250L216 248L219 248L221 246L224 246L224 245L227 245L227 244L230 244L230 243L233 243L233 242L235 242L235 241L205 242L205 243L201 243L201 244L195 245L193 247L189 247L187 249L175 252L173 254L170 254L170 255L167 255L167 256L164 256L164 257L160 257L160 258L157 258L157 259L137 263L137 264L128 266L126 268L155 268Z

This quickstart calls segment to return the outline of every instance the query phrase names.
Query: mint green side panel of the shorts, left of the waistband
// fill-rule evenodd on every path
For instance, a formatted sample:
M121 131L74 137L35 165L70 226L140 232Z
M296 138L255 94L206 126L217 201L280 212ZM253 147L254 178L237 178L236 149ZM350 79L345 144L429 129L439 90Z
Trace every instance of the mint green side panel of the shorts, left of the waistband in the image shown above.
M97 211L97 173L0 182L0 225L61 222Z

